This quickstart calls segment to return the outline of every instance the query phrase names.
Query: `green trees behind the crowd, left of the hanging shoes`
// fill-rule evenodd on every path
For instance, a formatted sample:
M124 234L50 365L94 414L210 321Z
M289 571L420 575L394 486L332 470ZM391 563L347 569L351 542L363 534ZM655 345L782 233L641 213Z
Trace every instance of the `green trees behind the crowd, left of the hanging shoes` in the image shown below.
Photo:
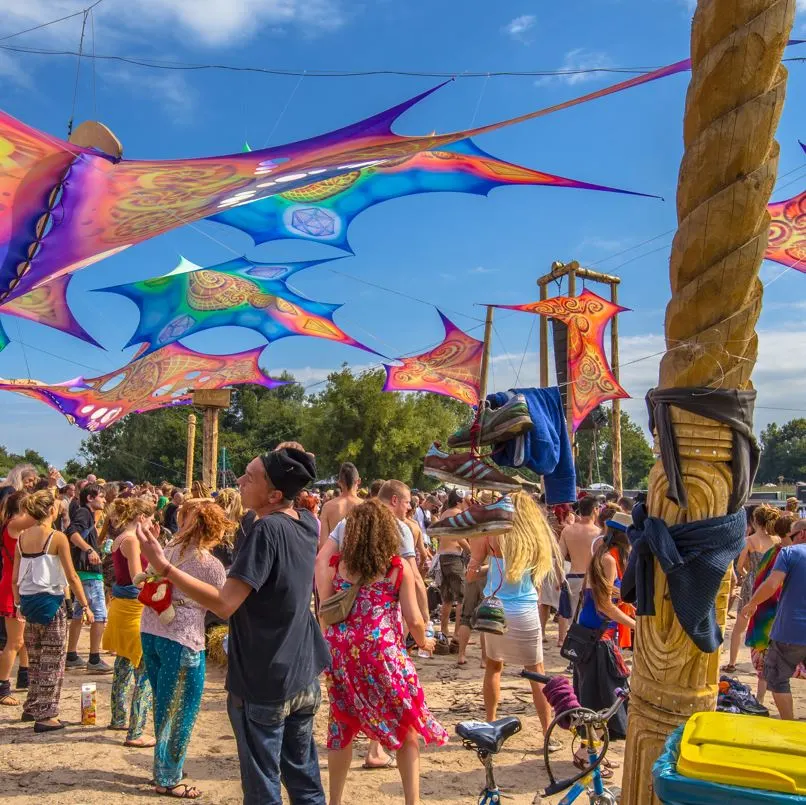
M365 483L398 478L421 489L433 488L435 482L422 474L423 456L432 441L444 441L456 430L468 408L435 394L382 392L384 376L383 370L355 375L345 367L310 397L298 384L235 389L232 405L220 420L219 447L227 450L228 469L239 475L252 458L279 442L300 441L316 453L320 478L335 474L343 461L352 461ZM178 407L125 417L85 439L80 463L71 469L91 469L110 480L182 484L190 412ZM201 477L201 433L199 417L196 478Z

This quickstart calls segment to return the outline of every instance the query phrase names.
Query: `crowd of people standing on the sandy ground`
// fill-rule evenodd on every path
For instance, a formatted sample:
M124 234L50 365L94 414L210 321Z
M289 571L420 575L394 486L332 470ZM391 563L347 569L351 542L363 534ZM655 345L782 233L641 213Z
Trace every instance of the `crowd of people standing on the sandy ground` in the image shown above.
M620 590L641 501L581 493L546 507L525 492L364 486L350 463L336 490L320 495L315 478L314 457L294 442L254 458L238 490L218 493L94 475L65 483L55 470L16 467L0 487L0 706L21 707L37 733L57 731L65 668L111 674L108 729L133 749L153 748L158 794L196 799L202 792L183 776L205 638L226 624L245 803L279 805L281 781L293 802L325 802L313 735L324 674L331 805L342 802L359 733L369 739L364 767L396 766L414 805L420 743L448 740L418 680L418 655L455 655L464 668L476 630L494 720L505 665L543 673L556 618L560 646L572 624L595 636L567 669L580 703L613 704L629 676L635 612ZM768 688L793 718L789 679L806 677L806 520L769 506L748 516L726 668L735 670L746 630L759 699ZM551 708L542 685L532 693L545 731ZM611 738L626 736L627 719L626 708L613 716ZM574 755L580 768L587 762ZM612 776L609 764L602 774Z

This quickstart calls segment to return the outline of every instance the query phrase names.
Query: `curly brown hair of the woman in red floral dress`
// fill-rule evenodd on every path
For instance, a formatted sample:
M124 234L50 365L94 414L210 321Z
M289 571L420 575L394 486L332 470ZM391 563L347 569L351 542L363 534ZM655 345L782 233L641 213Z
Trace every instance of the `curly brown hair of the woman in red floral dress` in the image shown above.
M376 499L347 516L341 560L354 576L374 579L386 573L400 550L400 529L392 512Z

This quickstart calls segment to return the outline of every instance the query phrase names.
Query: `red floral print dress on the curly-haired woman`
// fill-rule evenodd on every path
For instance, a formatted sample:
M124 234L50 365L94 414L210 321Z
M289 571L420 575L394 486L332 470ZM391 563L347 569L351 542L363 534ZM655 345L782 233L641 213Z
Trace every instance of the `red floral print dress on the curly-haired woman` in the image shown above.
M340 559L336 555L331 560L336 568L334 592L351 584L339 575ZM326 672L328 749L344 749L363 732L384 749L395 751L410 729L426 743L443 746L448 742L448 733L425 703L414 663L406 653L398 597L402 568L403 560L393 557L383 579L359 590L347 619L325 631L332 659Z

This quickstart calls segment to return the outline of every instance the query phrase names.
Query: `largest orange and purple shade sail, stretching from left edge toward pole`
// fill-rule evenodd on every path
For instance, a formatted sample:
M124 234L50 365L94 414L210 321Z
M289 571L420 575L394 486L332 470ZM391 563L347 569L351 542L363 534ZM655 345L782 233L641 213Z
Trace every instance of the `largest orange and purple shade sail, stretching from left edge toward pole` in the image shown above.
M541 117L687 69L654 70L579 98L468 131L404 137L392 124L434 90L337 131L251 153L117 159L0 113L0 304L148 238L224 209L444 150L472 135ZM436 88L435 88L436 89ZM51 215L51 213L53 213ZM298 222L308 228L313 216Z

